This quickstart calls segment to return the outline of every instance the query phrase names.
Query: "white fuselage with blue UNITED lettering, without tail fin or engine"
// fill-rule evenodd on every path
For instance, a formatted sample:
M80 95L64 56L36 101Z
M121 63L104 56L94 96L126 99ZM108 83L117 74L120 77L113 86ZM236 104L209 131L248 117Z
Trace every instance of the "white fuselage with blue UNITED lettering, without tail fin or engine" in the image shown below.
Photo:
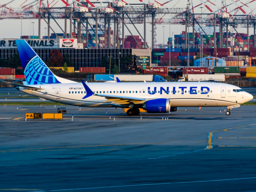
M147 82L147 83L87 83L95 94L106 94L152 100L169 99L172 107L221 107L233 106L251 100L251 94L236 92L239 87L223 83L207 82ZM129 107L119 105L113 100L92 95L82 99L86 93L82 83L39 84L34 87L42 90L28 90L20 87L20 91L39 98L82 107ZM145 101L134 101L134 105Z

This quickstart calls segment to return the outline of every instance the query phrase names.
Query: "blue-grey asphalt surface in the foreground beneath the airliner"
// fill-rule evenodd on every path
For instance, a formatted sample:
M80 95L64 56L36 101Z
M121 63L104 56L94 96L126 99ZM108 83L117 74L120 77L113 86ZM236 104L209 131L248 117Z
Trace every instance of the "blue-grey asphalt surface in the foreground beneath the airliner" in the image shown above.
M256 190L255 106L66 108L63 120L25 121L57 106L0 106L1 191Z

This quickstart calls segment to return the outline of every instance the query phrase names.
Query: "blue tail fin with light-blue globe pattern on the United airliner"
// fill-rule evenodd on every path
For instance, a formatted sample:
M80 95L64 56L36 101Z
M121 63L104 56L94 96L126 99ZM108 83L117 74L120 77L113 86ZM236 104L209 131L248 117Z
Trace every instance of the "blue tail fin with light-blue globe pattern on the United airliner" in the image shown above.
M25 40L16 40L26 82L32 84L61 83ZM57 79L58 78L58 79Z

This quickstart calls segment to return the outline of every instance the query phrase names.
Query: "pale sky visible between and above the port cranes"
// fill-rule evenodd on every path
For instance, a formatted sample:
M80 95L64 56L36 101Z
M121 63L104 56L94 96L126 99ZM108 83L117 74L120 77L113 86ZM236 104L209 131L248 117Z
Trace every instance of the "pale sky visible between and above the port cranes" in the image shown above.
M6 4L8 2L10 2L11 0L1 0L0 4ZM25 0L14 0L12 3L8 4L7 7L12 7L12 8L16 8L16 7L20 7L20 5L25 2L25 4L30 4L31 2L34 2L35 0L28 0L25 2ZM49 3L51 3L53 0L48 0ZM64 3L62 3L60 0L54 0L54 2L52 4L54 4L55 2L58 3L54 6L64 6ZM100 0L99 0L100 1ZM158 0L159 3L164 3L167 0ZM203 1L203 0L202 0ZM206 0L204 0L203 2L205 2ZM236 4L232 4L230 6L228 6L228 12L234 13L234 11L232 12L232 10L234 8L236 8L236 6L243 6L242 3L246 4L248 2L250 2L251 0L240 0L238 2L236 2ZM43 1L45 4L47 4L47 0ZM92 0L92 2L96 2L96 0ZM106 0L101 0L101 2L107 2ZM112 1L111 1L112 2ZM139 0L126 0L127 3L140 3ZM148 2L148 0L144 0L145 3ZM153 3L154 1L150 1L150 3ZM191 2L191 0L190 0ZM221 6L221 0L211 0L211 3L215 4L216 6L214 6L213 4L207 2L205 3L206 5L208 5L210 7L210 9L212 9L212 11L217 11L218 7ZM234 2L233 0L226 0L227 4L230 4L232 2ZM242 2L242 3L241 3ZM68 3L72 3L72 0L68 0ZM196 6L198 4L201 3L200 0L193 0L192 1L193 5ZM23 4L23 5L25 5ZM97 4L96 6L100 6L100 4ZM104 6L104 3L102 3L102 6ZM164 5L167 8L186 8L187 7L187 0L172 0L171 2L167 3ZM191 5L190 5L191 6ZM204 6L203 6L203 12L204 13L210 13L210 11ZM201 9L198 6L194 9L195 13L200 13ZM246 12L246 14L252 12L253 14L256 14L256 1L252 2L250 4L248 4L248 7L243 6L242 9ZM255 9L255 10L254 10ZM0 8L0 11L3 11L3 8ZM243 14L242 11L239 11L238 14ZM156 17L162 17L163 15L158 15ZM164 18L170 18L172 17L172 15L165 15ZM38 35L38 20L32 20L32 19L23 19L22 20L22 35L33 35L33 24L34 23L34 34ZM56 33L62 33L61 30L58 28L58 26L56 24L54 24L54 21L51 21L52 23L52 28L55 30ZM58 20L58 23L60 24L61 27L64 26L64 20ZM0 20L0 24L1 24L1 28L0 28L0 39L3 38L20 38L21 35L21 20L20 19L4 19L4 20ZM163 28L164 26L164 28ZM46 23L44 22L44 20L41 20L41 36L45 35L45 27L47 27ZM133 28L132 25L128 25L129 29L132 31L133 35L138 35L136 30ZM140 28L142 28L142 24L136 24L136 27L140 30ZM180 34L181 31L185 30L185 26L184 25L171 25L171 30L169 30L169 24L161 24L161 25L156 25L156 40L157 40L157 44L162 44L163 40L167 41L167 38L169 37L169 32L173 32L174 34ZM148 44L151 45L151 25L147 24L147 42ZM246 33L246 29L245 28L238 28L237 29L238 32L243 32ZM130 35L128 30L125 28L125 35ZM192 28L189 29L189 31L192 31ZM252 34L253 29L250 29L250 34ZM141 33L143 33L143 30L141 30ZM163 36L164 35L164 36ZM164 38L163 38L164 37Z

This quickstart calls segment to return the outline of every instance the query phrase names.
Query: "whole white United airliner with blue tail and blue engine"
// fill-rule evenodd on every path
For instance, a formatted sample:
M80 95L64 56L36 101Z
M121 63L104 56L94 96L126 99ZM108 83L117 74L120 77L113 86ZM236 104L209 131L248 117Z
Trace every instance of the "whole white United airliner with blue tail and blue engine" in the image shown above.
M77 83L55 76L25 40L16 40L27 85L14 84L36 97L81 107L130 108L128 116L169 113L178 107L231 108L253 96L230 84L207 82Z

